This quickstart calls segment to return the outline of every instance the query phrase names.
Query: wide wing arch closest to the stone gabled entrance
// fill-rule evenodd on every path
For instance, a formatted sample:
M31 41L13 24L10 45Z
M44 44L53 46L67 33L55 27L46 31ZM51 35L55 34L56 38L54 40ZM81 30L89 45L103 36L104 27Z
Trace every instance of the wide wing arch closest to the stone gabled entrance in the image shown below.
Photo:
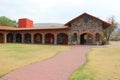
M57 44L68 44L68 35L60 33L57 35Z

